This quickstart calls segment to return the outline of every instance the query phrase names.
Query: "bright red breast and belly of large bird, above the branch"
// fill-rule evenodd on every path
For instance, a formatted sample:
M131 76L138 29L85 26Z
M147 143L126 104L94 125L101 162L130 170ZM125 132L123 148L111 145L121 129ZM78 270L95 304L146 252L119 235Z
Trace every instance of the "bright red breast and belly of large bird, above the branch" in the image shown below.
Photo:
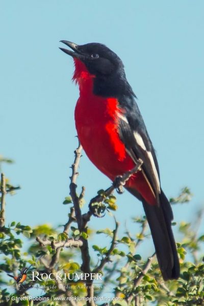
M80 98L75 108L79 140L89 159L114 180L117 175L134 167L117 132L117 117L113 116L118 109L117 100L91 98L88 101ZM114 109L114 113L110 114L110 108Z

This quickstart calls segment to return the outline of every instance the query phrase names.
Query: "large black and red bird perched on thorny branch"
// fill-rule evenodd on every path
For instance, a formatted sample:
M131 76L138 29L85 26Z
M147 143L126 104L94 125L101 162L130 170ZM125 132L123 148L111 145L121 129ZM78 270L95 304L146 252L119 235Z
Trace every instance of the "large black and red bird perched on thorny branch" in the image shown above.
M74 60L80 97L75 125L80 143L95 166L112 181L143 161L125 188L142 201L164 280L177 279L180 264L171 229L173 213L160 184L154 147L120 58L103 44L60 48Z

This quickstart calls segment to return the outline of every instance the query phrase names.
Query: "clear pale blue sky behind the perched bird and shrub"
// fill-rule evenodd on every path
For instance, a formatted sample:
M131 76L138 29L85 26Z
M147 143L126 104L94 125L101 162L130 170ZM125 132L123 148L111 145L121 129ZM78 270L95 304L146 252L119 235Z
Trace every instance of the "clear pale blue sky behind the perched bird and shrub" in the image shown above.
M71 83L72 60L58 49L62 39L105 43L120 56L157 150L164 191L176 196L187 185L194 193L191 204L173 207L175 221L193 217L204 199L203 12L203 0L1 1L0 153L15 160L3 170L22 187L7 197L8 221L66 221L68 207L61 203L77 145L79 93ZM110 185L85 154L83 184L87 201ZM127 192L117 203L121 226L143 214ZM109 216L90 222L112 224Z

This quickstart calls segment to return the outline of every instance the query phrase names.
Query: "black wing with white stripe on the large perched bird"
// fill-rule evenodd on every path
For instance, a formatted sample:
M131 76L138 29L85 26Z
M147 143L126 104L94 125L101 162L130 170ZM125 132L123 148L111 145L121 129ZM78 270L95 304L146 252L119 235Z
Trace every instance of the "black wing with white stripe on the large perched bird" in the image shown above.
M123 97L119 100L119 135L126 151L136 162L143 160L142 171L151 189L155 193L159 205L160 175L155 150L151 144L140 110L133 97Z

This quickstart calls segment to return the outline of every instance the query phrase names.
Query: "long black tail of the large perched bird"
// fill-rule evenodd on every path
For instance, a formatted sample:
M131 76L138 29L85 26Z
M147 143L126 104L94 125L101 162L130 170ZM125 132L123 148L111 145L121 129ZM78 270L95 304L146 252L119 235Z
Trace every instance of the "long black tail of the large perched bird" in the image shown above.
M173 213L163 191L160 194L160 206L152 206L143 201L144 211L155 244L158 263L164 281L177 279L180 264L171 229Z

